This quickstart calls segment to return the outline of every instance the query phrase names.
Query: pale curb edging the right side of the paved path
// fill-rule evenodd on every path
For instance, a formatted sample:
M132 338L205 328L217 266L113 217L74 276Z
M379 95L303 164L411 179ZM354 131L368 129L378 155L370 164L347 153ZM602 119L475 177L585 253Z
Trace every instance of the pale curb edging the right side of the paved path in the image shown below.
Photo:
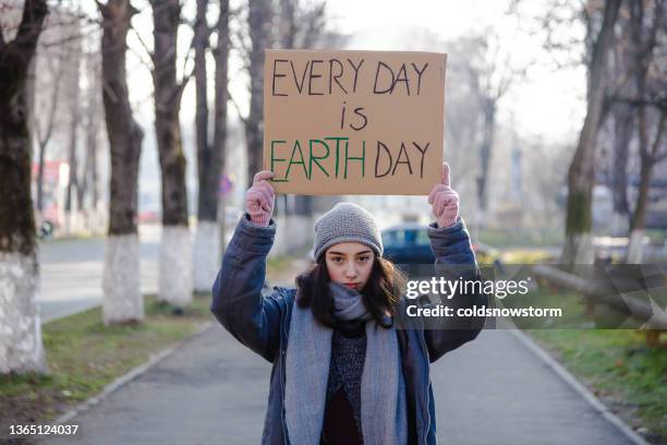
M523 346L530 349L535 356L537 356L547 366L551 369L565 383L570 385L581 397L584 398L602 414L602 417L620 430L626 437L628 437L635 445L651 445L641 435L639 435L630 425L623 420L616 416L609 408L605 406L593 393L591 393L581 382L579 382L568 370L558 363L551 356L549 356L544 349L542 349L532 338L525 335L523 332L517 328L508 329L514 338L517 338Z

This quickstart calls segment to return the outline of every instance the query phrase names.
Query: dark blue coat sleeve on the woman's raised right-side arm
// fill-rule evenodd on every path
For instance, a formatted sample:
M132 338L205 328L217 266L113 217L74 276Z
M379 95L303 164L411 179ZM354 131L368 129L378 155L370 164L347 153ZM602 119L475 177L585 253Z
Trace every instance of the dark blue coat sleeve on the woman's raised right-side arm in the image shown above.
M448 279L482 281L480 267L470 243L470 234L461 217L449 228L437 228L435 222L429 225L428 237L436 256L436 270L440 270ZM488 297L480 285L468 286L464 290L459 289L447 304L454 311L473 305L485 306L488 304ZM484 316L456 317L453 325L424 329L429 360L434 362L445 353L474 339L484 327Z

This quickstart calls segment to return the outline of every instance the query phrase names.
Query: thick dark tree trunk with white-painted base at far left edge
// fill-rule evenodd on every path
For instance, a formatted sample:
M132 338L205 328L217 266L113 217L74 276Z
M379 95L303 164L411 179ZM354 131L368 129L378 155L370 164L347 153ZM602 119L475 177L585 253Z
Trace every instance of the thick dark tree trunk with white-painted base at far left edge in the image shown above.
M0 29L0 373L47 371L27 103L28 69L47 13L45 0L26 0L15 38L5 43Z

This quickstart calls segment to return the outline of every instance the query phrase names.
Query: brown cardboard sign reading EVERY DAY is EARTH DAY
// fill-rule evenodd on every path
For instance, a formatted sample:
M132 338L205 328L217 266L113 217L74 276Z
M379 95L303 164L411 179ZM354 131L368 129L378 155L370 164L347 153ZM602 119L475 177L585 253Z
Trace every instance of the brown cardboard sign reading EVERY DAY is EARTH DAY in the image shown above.
M278 193L428 194L440 181L435 52L267 50L264 169Z

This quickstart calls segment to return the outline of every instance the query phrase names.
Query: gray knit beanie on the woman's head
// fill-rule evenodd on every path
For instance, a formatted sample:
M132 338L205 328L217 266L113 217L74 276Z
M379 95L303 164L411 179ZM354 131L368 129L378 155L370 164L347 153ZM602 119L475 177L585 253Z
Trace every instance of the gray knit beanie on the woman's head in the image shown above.
M366 209L352 203L338 203L315 222L315 261L331 245L355 241L383 255L383 238L377 221Z

